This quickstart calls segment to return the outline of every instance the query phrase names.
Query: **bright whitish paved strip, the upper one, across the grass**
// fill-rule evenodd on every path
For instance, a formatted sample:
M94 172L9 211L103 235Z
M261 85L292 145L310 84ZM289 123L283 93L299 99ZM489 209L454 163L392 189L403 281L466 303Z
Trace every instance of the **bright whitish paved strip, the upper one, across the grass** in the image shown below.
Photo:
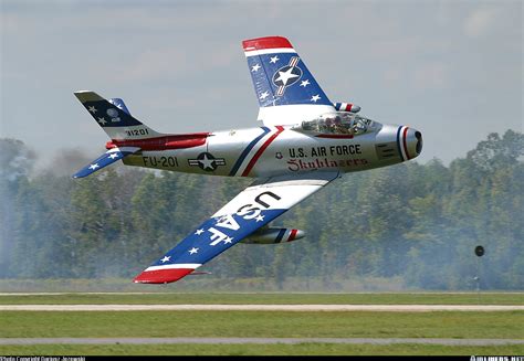
M524 311L510 305L0 305L0 311Z

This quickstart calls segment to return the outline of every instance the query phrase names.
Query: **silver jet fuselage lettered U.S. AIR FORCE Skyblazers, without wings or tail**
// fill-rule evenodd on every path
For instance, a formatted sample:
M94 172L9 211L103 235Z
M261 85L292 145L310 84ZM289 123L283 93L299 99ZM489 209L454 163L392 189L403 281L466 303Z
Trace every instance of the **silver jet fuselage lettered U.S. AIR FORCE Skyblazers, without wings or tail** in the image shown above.
M164 149L142 150L123 161L127 166L228 177L354 172L417 157L421 139L416 132L391 125L357 136L260 127L198 134L193 141L188 135L181 140L185 144L171 141L171 146L159 147Z

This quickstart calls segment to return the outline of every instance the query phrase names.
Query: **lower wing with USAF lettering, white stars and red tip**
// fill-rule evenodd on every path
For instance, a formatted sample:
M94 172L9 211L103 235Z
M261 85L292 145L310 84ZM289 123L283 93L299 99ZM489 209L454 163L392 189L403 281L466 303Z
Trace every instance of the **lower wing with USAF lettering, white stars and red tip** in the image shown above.
M255 181L134 282L166 284L187 276L336 178L338 172L315 172Z

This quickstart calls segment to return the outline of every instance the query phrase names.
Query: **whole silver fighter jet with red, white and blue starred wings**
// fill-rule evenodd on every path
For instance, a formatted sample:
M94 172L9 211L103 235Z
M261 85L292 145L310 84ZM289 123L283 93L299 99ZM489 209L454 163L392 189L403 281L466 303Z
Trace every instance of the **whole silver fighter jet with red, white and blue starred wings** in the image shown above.
M242 45L259 99L259 127L161 134L136 119L120 98L74 93L111 138L107 151L74 178L118 160L177 172L254 178L135 283L176 282L239 242L298 240L304 231L269 223L343 173L400 163L422 150L417 129L371 120L350 103L332 103L287 39L250 39Z

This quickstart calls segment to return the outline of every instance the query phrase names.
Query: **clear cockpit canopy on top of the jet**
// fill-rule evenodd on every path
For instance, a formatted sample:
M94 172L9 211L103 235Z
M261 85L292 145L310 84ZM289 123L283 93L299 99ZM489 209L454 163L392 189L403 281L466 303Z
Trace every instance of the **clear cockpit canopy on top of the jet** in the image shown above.
M360 115L336 112L323 114L316 119L304 120L295 130L322 134L339 134L358 136L380 128L380 124Z

